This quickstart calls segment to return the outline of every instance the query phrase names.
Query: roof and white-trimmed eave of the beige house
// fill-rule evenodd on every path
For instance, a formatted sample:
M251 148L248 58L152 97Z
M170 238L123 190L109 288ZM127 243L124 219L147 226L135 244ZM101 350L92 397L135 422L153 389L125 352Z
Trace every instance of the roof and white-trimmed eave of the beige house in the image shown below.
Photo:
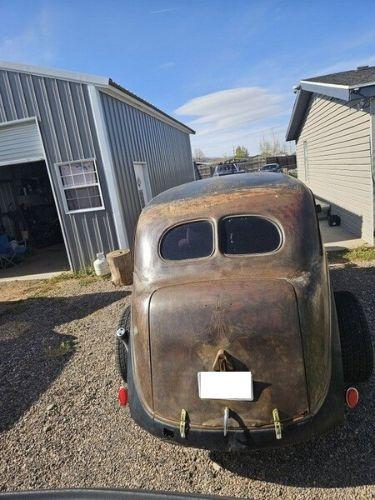
M359 66L350 71L301 80L296 87L296 100L290 118L286 140L298 138L302 121L313 94L320 94L345 102L375 96L375 66Z

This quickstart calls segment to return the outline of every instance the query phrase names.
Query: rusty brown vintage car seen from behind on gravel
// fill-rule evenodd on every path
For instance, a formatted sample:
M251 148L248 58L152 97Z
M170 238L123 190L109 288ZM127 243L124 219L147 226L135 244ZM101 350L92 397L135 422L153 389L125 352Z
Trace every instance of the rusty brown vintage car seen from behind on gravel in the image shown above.
M345 398L358 402L348 384L372 371L366 318L347 292L335 307L300 181L256 173L165 191L141 213L134 259L117 359L131 416L150 433L275 447L319 435L343 420Z

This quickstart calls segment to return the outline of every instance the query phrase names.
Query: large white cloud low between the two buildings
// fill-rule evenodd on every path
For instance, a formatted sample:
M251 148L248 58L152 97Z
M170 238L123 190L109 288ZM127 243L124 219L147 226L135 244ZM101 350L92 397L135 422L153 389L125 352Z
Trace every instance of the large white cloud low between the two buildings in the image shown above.
M195 117L189 123L197 132L192 143L207 155L231 154L238 144L256 153L259 141L271 129L284 130L279 120L289 115L289 110L284 109L283 101L280 94L261 87L240 87L196 97L175 113ZM284 116L282 122L288 118Z

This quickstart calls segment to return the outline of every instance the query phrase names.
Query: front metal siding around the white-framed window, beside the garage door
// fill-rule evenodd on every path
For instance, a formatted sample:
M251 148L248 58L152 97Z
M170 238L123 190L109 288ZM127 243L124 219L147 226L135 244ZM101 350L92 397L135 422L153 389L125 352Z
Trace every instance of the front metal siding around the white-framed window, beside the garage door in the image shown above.
M0 71L0 122L36 116L73 268L117 247L110 199L85 84ZM106 210L65 214L54 164L95 157Z

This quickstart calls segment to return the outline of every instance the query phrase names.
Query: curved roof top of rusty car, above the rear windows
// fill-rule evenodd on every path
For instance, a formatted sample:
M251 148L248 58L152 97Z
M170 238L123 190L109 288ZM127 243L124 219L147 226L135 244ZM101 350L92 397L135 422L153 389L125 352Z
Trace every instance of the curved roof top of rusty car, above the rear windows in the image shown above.
M241 175L230 175L223 177L209 177L198 181L188 182L180 186L168 189L151 200L147 208L171 203L173 201L183 202L192 198L212 196L215 194L232 194L237 191L250 191L252 189L270 188L285 190L296 188L307 189L304 184L290 175L279 173L247 173Z

